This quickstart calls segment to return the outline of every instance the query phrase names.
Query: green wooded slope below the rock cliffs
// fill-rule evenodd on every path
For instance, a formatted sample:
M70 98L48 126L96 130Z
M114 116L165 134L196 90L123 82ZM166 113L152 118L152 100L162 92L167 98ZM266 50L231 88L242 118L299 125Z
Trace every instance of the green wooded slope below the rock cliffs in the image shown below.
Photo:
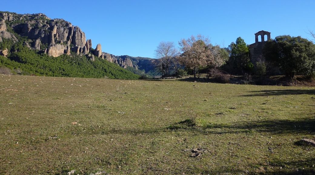
M9 42L0 43L0 48L2 44L7 43ZM7 57L0 56L0 65L9 68L12 73L16 74L113 79L138 79L140 77L99 57L95 57L95 61L91 61L86 56L76 54L48 56L38 50L29 49L22 45L21 41L9 47L9 50L17 51L10 53Z

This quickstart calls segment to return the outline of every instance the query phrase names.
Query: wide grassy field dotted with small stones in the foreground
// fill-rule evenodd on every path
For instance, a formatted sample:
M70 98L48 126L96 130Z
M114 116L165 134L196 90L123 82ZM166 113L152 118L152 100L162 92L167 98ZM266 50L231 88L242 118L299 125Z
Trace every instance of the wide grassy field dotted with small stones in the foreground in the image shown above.
M0 174L314 174L314 87L0 75Z

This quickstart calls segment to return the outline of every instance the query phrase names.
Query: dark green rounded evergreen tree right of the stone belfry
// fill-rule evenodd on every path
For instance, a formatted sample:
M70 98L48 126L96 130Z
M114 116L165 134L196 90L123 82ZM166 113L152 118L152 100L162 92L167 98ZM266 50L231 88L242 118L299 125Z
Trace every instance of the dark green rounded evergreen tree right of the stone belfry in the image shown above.
M315 45L301 36L282 35L267 41L264 56L290 78L315 75Z

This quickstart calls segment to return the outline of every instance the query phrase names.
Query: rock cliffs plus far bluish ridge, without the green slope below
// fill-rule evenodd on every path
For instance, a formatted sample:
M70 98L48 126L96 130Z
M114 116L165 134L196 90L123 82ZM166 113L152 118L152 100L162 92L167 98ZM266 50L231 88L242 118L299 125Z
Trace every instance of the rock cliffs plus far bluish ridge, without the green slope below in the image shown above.
M21 43L23 47L37 50L37 54L47 54L52 57L77 55L89 61L99 58L125 69L132 67L134 70L155 72L153 59L114 56L102 52L100 44L93 49L92 40L86 40L85 33L78 26L72 26L64 19L50 19L42 13L17 14L0 11L0 55L6 57L18 51L14 50L14 45L19 42L23 42Z

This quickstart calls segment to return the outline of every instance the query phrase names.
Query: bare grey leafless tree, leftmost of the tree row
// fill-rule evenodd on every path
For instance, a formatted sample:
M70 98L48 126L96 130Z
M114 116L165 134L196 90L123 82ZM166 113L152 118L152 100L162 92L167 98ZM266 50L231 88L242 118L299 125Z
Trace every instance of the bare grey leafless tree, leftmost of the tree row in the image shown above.
M155 50L156 60L155 66L162 76L169 76L171 68L175 63L176 56L178 55L178 50L175 48L173 42L160 42Z

